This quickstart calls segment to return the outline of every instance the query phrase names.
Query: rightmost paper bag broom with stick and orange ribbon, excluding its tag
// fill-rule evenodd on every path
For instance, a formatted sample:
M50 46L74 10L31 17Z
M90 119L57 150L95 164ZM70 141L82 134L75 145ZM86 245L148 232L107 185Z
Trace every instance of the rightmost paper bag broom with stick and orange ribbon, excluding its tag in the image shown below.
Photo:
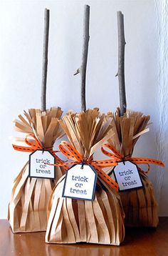
M124 18L121 11L117 12L118 26L118 72L119 92L120 92L120 109L118 108L115 114L108 113L109 117L113 117L113 132L114 134L108 140L110 145L115 148L117 153L112 152L113 157L117 155L117 161L127 161L137 164L142 187L129 189L120 192L122 205L125 211L126 226L145 226L157 227L158 213L157 200L154 195L152 182L147 177L149 164L164 164L155 159L135 158L132 157L133 149L137 139L147 132L147 124L149 116L145 116L141 112L132 112L127 110L125 96L125 34L124 34ZM106 145L110 147L110 145ZM105 152L105 151L104 151ZM105 152L106 154L107 152ZM108 154L108 153L107 153ZM140 168L140 164L147 164L148 171L145 172ZM127 183L128 184L128 183Z

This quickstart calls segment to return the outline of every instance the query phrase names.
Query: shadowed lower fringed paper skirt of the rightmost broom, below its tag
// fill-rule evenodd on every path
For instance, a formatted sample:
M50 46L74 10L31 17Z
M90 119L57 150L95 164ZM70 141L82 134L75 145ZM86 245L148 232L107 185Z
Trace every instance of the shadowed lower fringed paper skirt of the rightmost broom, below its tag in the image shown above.
M157 227L159 219L154 188L146 174L140 172L140 176L142 188L120 193L125 211L125 226Z

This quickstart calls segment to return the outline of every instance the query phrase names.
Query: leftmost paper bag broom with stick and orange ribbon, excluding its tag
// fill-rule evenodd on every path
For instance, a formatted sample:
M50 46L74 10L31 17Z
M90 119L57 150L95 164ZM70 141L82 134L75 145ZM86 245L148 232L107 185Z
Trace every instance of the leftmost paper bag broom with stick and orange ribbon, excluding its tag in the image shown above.
M14 121L15 129L26 134L24 139L16 138L14 149L21 152L43 152L47 150L51 158L57 162L61 160L56 157L53 151L53 144L58 137L63 135L58 119L61 118L60 107L52 107L46 110L46 76L47 76L47 55L48 55L48 30L49 10L45 10L45 30L43 45L43 77L41 90L41 109L28 109L23 117ZM38 162L41 159L38 160ZM42 161L41 161L42 162ZM39 165L45 168L45 164ZM63 167L56 167L55 179L42 177L29 177L30 162L21 169L21 172L14 180L11 200L9 202L9 222L13 232L37 232L45 231L47 226L47 205L56 181L64 174ZM46 169L39 170L45 172ZM34 170L35 171L35 170ZM37 171L36 171L37 172Z

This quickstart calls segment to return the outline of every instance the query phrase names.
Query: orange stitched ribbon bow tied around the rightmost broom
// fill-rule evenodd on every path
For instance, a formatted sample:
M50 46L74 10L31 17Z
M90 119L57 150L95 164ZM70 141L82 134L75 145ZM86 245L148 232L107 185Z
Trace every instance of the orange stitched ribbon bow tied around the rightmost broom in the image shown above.
M144 157L123 157L122 154L120 154L120 152L117 151L117 149L115 149L115 147L113 147L111 144L104 144L104 147L107 147L108 149L111 150L111 152L108 152L107 150L105 150L103 147L101 148L103 154L105 154L106 156L112 158L113 160L117 161L117 162L121 162L121 161L130 161L134 164L147 164L148 165L148 169L147 171L141 171L142 172L149 172L150 170L150 166L149 164L157 164L159 166L164 167L164 163L160 160L157 159L152 159L152 158L144 158Z

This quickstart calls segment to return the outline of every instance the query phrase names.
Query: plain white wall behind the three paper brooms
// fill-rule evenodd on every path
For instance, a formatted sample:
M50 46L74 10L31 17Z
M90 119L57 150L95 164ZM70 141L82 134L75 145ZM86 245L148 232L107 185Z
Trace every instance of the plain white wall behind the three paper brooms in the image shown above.
M12 122L23 109L40 107L43 10L51 10L47 105L80 111L80 77L73 73L80 64L84 4L90 4L88 108L98 106L107 112L119 105L116 12L121 10L127 42L127 106L152 119L151 130L137 143L135 155L159 157L167 164L166 1L0 1L1 218L6 218L14 177L28 159L27 153L11 147L9 137L17 135ZM165 170L152 167L149 174L160 215L168 215Z

